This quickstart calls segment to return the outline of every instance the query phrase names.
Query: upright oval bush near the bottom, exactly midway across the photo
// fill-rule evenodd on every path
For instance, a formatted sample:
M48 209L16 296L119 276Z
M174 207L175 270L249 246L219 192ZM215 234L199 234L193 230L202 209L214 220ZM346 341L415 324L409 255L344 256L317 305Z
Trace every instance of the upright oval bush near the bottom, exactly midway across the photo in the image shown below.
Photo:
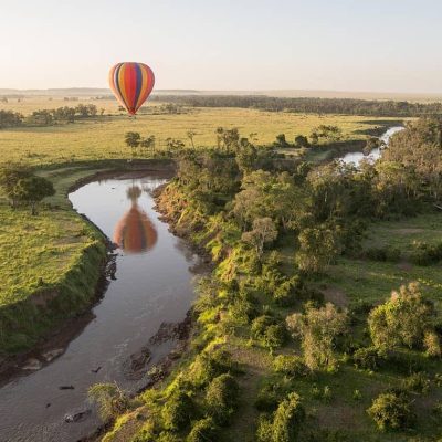
M221 375L212 380L206 392L210 415L220 425L225 425L235 411L239 386L231 375Z

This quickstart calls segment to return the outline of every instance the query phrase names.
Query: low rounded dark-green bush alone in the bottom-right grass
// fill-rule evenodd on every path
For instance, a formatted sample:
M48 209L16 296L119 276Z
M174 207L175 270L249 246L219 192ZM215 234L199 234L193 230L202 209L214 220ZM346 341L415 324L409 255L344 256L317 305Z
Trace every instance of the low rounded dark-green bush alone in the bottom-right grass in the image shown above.
M403 430L414 420L411 401L406 393L400 391L379 394L367 412L381 431Z

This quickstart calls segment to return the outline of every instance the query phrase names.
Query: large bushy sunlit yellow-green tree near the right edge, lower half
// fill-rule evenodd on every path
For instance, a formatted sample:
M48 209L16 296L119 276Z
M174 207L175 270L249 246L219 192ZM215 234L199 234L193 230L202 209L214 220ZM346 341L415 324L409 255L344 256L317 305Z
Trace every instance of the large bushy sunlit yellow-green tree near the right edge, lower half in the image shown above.
M423 299L419 284L402 285L385 304L375 307L368 317L371 340L380 349L400 345L422 346L425 332L431 330L433 311Z

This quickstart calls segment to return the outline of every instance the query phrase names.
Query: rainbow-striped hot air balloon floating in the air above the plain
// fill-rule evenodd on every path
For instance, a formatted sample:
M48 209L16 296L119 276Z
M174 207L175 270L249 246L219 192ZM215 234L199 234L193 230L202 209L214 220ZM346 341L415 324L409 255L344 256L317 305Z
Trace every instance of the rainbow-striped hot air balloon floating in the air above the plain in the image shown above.
M117 63L109 72L110 90L129 115L137 113L154 84L154 72L147 64Z

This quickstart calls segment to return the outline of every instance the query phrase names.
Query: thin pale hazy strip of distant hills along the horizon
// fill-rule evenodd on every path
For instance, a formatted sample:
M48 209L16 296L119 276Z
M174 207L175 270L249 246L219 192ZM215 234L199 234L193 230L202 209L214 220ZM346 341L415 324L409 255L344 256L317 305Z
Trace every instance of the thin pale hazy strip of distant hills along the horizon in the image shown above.
M107 87L66 87L49 90L0 88L0 96L65 96L91 97L112 95ZM316 98L360 98L393 99L409 102L440 102L442 93L388 93L388 92L348 92L348 91L308 91L308 90L269 90L269 91L198 91L198 90L155 90L154 95L266 95L274 97L316 97Z

